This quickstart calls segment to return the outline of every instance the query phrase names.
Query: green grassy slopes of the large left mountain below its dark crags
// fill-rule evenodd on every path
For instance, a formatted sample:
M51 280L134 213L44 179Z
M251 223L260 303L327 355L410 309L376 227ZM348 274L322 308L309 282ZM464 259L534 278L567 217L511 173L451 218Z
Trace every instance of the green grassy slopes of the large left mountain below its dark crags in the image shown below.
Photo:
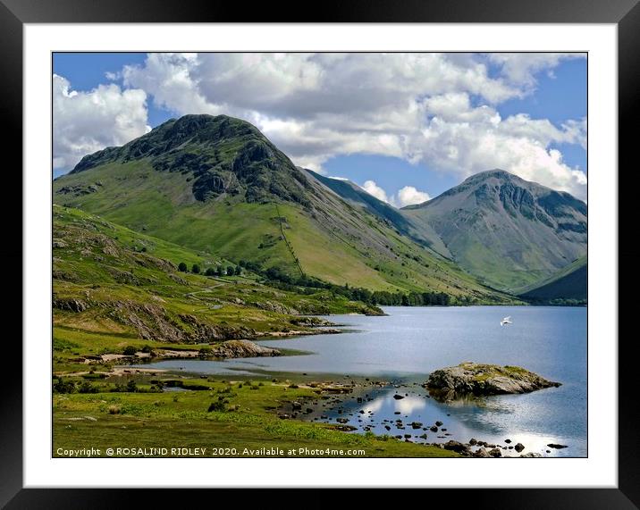
M56 204L90 211L208 259L243 259L291 274L299 274L300 265L322 280L371 290L431 290L469 297L477 304L514 302L338 199L320 200L316 206L323 209L317 214L277 198L272 203L247 203L241 196L220 196L198 202L189 179L180 172L155 171L144 159L106 163L55 180L54 197ZM95 193L58 193L65 186L87 187L97 181L102 186ZM282 230L278 217L286 218ZM171 254L168 246L159 247L160 252L179 255Z

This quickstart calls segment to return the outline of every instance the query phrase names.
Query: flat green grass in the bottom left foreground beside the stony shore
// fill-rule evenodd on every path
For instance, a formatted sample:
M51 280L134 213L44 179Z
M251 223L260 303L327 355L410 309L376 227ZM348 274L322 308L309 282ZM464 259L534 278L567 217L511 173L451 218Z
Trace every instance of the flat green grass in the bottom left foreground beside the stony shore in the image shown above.
M244 448L363 449L364 456L455 457L451 451L333 430L326 423L281 420L272 408L292 400L317 397L313 389L291 389L264 382L186 380L205 386L204 391L164 393L96 393L54 396L54 449L107 447L211 447ZM108 383L97 383L105 387ZM231 388L231 389L230 389ZM218 397L228 400L227 408L237 410L207 412ZM110 414L116 408L117 414ZM103 453L102 456L105 456ZM286 456L286 454L285 454Z

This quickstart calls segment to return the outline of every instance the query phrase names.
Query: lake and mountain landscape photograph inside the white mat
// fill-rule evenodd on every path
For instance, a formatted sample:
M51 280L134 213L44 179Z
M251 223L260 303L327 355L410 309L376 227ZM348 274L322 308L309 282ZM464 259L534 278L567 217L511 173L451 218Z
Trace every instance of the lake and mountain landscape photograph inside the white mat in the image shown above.
M52 54L52 456L588 456L586 67Z

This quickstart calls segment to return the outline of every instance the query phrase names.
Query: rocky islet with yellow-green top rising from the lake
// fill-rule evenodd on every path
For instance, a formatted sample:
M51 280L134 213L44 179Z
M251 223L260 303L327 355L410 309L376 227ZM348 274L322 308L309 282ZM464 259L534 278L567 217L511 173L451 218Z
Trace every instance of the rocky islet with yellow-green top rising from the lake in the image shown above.
M489 396L529 393L560 386L518 366L463 363L432 372L425 388L436 397Z

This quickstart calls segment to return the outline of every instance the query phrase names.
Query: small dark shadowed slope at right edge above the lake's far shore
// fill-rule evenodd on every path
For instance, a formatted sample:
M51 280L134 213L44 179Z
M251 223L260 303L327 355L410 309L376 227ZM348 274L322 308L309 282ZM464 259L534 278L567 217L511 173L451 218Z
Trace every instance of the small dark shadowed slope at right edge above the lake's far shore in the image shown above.
M535 302L586 301L586 255L569 263L550 278L518 289L519 296Z

